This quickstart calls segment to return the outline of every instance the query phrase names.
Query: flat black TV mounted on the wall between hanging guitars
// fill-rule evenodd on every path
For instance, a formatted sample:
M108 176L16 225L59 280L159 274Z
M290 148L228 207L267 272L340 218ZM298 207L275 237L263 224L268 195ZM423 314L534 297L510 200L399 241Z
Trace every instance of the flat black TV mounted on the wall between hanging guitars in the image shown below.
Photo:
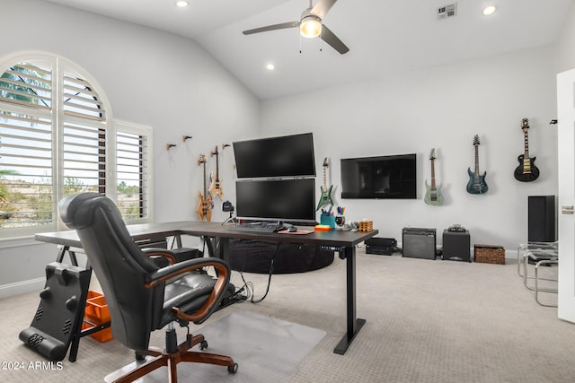
M417 198L416 155L341 160L341 198Z

